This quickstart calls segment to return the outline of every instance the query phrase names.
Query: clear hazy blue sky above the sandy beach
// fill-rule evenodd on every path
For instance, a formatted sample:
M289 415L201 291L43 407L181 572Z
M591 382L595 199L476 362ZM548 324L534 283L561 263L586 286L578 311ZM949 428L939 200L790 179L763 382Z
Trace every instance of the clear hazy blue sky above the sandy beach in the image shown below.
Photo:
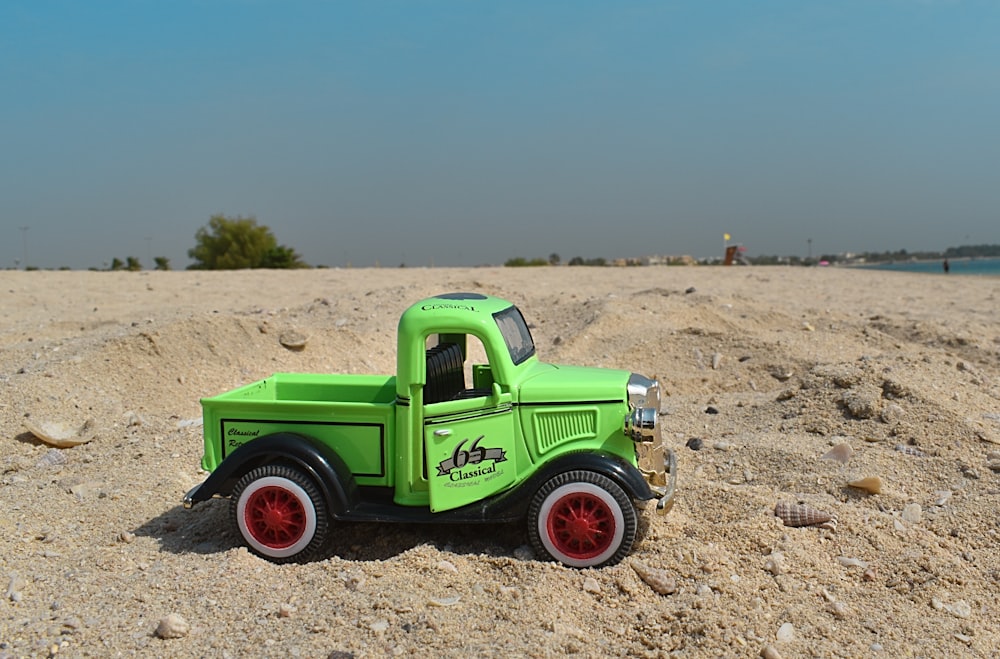
M216 213L330 266L1000 243L998 35L992 1L6 0L0 267L183 268Z

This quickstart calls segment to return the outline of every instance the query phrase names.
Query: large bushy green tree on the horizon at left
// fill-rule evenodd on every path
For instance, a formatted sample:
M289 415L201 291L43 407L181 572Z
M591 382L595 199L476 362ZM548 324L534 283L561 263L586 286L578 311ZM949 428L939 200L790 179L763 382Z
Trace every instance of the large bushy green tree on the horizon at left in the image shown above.
M189 270L309 267L295 250L278 245L271 230L254 217L213 215L194 237Z

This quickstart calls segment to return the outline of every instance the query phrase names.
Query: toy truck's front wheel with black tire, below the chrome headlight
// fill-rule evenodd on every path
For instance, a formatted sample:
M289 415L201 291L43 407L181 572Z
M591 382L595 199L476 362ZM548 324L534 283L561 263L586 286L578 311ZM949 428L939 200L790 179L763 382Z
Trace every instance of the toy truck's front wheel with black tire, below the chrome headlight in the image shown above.
M540 556L570 567L614 565L632 550L637 515L625 491L592 471L568 471L542 485L528 508L528 537Z

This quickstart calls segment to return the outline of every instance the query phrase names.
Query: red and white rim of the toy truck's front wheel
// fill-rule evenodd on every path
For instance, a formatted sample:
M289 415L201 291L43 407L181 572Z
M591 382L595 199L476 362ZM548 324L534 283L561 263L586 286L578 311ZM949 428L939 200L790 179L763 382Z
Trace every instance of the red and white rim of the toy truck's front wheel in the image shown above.
M552 506L545 528L560 552L574 560L585 560L611 546L615 517L600 497L573 492Z

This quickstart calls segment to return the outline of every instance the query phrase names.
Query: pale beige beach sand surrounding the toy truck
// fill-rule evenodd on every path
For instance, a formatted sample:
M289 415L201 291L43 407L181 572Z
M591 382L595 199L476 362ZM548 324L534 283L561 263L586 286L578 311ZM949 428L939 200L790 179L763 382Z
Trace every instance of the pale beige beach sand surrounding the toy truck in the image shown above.
M660 379L679 492L631 558L672 592L541 561L520 525L338 525L279 566L228 501L181 507L200 397L391 373L399 313L448 291L516 302L545 361ZM998 296L851 269L0 272L0 657L992 655Z

